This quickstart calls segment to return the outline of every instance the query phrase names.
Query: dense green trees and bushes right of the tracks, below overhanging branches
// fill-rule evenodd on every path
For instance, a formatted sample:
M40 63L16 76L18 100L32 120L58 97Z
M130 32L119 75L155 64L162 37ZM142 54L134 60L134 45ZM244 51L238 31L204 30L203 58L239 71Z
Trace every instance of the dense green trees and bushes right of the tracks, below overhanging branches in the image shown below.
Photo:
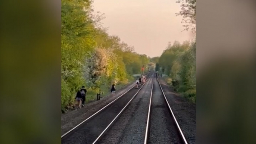
M174 90L196 102L196 43L169 43L157 65L160 73L168 75L166 82Z

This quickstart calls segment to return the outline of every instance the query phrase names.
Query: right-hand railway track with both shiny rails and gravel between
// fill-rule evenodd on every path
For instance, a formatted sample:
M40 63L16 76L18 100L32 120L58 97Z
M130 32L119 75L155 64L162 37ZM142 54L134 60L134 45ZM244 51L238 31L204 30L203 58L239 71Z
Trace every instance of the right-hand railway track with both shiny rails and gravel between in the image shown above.
M144 144L188 144L158 78L152 82Z

